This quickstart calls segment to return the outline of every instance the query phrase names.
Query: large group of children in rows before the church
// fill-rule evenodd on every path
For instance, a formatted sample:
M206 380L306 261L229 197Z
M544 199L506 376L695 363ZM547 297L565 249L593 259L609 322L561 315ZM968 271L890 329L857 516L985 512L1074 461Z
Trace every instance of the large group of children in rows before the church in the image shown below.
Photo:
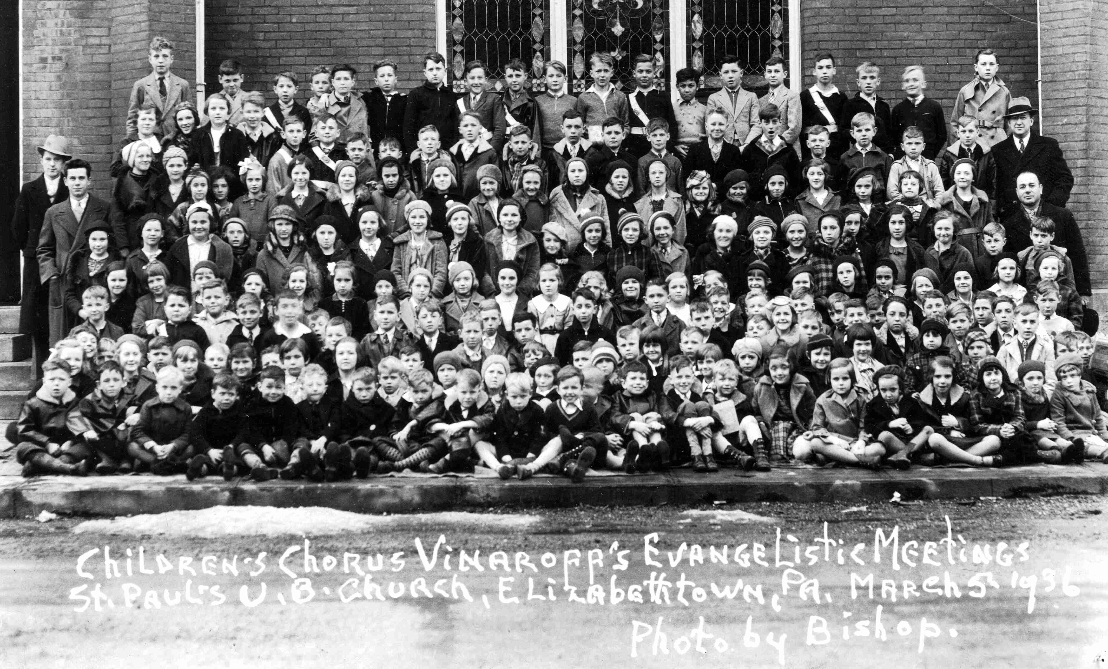
M203 114L138 102L113 166L132 250L84 228L24 474L1108 459L1055 222L1006 249L985 193L1003 128L962 114L948 151L920 68L889 110L876 66L847 101L830 54L799 95L771 59L762 99L727 56L708 105L695 70L670 102L649 56L630 94L589 65L575 99L562 63L533 96L523 63L499 95L474 61L455 97L431 53L407 95L381 61L361 97L336 65L305 106L278 74L266 106L228 61Z

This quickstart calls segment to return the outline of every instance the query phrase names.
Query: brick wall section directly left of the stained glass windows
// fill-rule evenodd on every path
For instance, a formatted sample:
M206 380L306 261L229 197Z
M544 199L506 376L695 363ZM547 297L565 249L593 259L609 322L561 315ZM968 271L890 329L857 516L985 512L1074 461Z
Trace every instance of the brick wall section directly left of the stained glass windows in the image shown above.
M300 76L302 100L317 65L348 62L358 70L357 90L372 88L371 63L391 58L400 65L398 85L416 86L421 56L434 49L432 0L305 3L290 0L209 0L206 4L207 91L219 90L219 62L243 63L245 90L274 102L273 75L291 70Z

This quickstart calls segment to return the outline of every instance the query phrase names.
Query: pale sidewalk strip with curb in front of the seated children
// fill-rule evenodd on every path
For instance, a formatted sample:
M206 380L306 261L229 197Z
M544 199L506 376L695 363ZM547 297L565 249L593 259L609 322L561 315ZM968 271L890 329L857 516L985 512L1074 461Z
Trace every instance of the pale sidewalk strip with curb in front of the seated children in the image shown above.
M7 463L6 463L7 464ZM14 463L10 463L14 464ZM7 475L6 475L7 474ZM485 476L408 474L341 483L254 483L184 476L41 476L0 471L0 518L41 511L92 516L162 513L211 506L326 506L360 513L416 513L497 506L635 506L726 502L862 502L1054 494L1108 494L1108 464L993 469L913 467L906 472L840 467L778 467L756 474L721 470L695 474L587 476L573 484L556 476L501 481Z

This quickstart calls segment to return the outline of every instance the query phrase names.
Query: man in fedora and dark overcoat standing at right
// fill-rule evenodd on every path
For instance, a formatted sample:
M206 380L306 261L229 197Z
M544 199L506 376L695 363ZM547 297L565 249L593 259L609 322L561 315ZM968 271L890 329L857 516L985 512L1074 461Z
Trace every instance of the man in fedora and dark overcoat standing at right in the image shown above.
M1018 210L1016 177L1024 172L1034 172L1043 186L1043 199L1057 207L1069 202L1074 187L1074 175L1066 164L1058 141L1053 137L1032 134L1038 110L1026 97L1013 97L1008 112L1004 115L1008 125L1008 137L993 145L985 156L995 172L988 196L995 207L1009 215ZM988 174L987 169L982 171ZM1019 249L1009 249L1019 250ZM1074 269L1077 269L1076 267Z

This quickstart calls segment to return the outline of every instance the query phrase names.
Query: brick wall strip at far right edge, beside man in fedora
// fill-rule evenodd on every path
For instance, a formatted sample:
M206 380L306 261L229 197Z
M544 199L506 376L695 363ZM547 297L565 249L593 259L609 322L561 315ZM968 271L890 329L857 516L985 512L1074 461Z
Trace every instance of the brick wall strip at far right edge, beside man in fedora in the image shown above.
M1069 209L1081 226L1097 308L1108 307L1108 2L1043 0L1043 133L1061 144L1076 176ZM1101 316L1101 322L1105 318Z

